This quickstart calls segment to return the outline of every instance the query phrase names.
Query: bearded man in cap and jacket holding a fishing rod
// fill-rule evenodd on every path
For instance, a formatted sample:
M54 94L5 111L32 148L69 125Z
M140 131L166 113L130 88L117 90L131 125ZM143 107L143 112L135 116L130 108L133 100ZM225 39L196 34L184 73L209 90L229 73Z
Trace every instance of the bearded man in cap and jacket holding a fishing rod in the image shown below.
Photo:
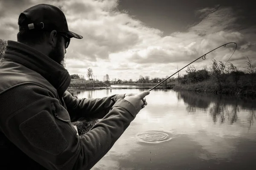
M70 38L82 36L47 4L25 10L18 24L0 63L0 169L90 169L147 105L149 91L76 99L66 91L63 61ZM93 119L102 120L76 135L71 122Z

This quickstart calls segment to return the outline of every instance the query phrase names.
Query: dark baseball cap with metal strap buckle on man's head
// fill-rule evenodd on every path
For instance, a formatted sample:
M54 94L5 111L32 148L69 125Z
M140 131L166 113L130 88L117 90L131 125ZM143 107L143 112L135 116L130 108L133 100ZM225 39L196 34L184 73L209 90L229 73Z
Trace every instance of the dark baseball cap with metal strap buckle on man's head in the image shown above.
M28 24L19 26L19 30L56 30L69 38L83 38L81 35L69 31L64 13L56 6L38 4L26 9L21 15L26 16Z

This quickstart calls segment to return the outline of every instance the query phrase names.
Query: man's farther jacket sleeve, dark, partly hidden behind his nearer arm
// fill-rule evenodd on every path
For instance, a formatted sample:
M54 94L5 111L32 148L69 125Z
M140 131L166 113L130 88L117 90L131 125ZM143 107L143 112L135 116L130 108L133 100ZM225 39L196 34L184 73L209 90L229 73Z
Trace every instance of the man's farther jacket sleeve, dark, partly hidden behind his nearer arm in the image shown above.
M125 94L116 94L96 99L77 99L68 91L65 91L63 99L70 114L71 122L76 122L102 119L115 103L111 98L117 101L118 99L124 99L124 96Z

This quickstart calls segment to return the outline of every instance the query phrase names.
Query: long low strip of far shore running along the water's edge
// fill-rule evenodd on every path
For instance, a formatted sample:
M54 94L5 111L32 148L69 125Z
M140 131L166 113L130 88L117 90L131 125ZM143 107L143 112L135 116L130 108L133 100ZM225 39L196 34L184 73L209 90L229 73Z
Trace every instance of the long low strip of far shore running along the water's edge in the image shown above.
M126 82L122 84L107 84L104 82L93 82L93 81L81 81L80 79L71 79L69 89L150 89L153 88L158 83L136 83L136 82ZM116 87L111 87L115 85ZM134 85L137 87L121 87ZM120 86L120 87L118 87ZM166 84L161 84L156 87L156 89L174 89L182 91L195 91L199 93L209 93L209 94L231 94L238 96L256 96L256 89L244 86L242 88L236 88L234 85L223 86L222 89L218 89L218 84L210 80L192 84L181 84L178 82L168 82Z

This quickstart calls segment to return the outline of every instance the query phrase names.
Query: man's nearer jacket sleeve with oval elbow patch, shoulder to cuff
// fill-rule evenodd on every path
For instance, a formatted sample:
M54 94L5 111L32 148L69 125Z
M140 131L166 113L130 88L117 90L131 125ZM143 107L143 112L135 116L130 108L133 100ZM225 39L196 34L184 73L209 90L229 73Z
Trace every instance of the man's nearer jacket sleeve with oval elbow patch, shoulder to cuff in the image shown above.
M130 102L118 99L100 122L78 136L69 113L49 90L23 85L1 97L6 99L8 95L22 99L2 101L1 130L20 150L49 170L90 169L136 116Z

